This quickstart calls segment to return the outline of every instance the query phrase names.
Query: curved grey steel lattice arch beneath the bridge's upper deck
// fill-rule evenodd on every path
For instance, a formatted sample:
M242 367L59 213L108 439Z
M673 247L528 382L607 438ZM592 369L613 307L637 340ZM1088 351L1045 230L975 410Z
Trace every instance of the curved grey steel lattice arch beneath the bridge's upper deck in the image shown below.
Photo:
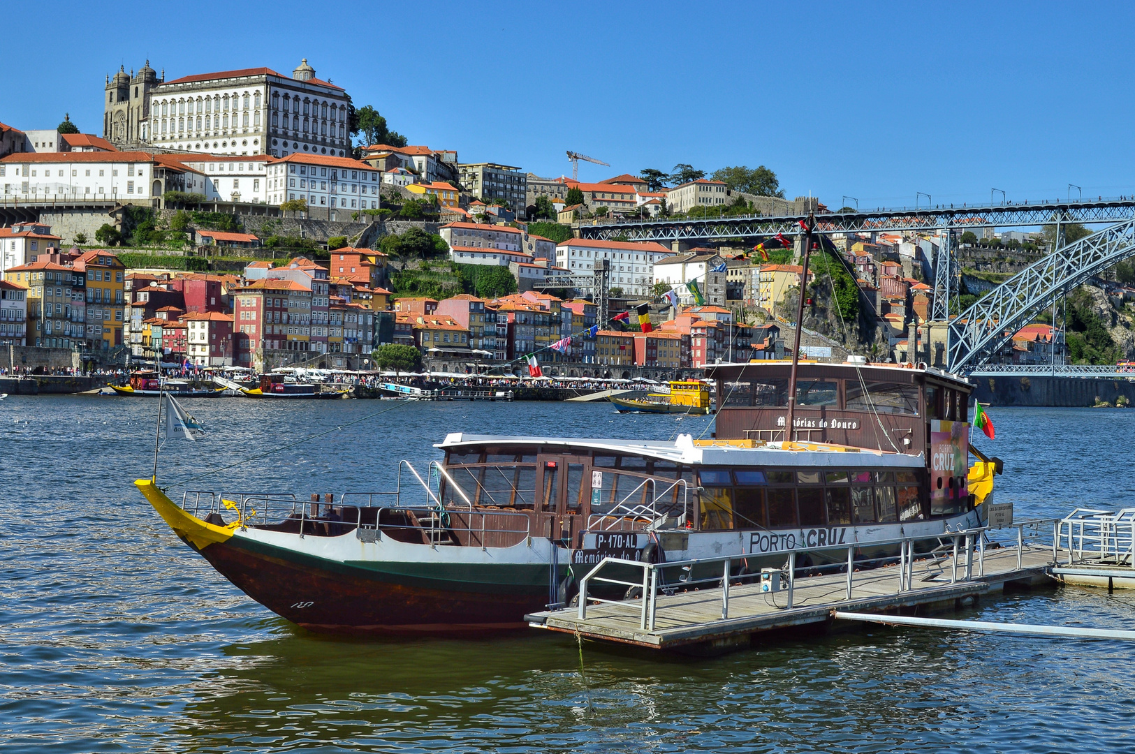
M1135 256L1135 219L1059 247L1028 265L950 322L948 368L973 370L989 361L1041 308L1130 256Z

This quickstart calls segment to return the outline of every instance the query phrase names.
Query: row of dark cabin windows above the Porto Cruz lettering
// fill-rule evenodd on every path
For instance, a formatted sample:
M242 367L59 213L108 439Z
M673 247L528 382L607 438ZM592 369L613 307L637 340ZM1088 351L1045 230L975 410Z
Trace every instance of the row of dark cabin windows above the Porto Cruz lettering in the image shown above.
M926 517L914 471L703 468L701 530L849 526Z

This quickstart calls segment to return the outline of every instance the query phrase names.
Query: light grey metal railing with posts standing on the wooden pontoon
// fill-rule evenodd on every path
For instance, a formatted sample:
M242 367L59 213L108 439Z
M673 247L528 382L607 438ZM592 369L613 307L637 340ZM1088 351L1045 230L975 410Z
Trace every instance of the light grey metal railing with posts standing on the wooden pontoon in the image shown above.
M989 547L1016 548L1017 569L1023 565L1024 557L1032 550L1043 550L1051 552L1052 560L1057 559L1057 544L1053 539L1057 530L1057 519L1032 519L1012 524L1002 530L1015 531L1016 541L1008 542L992 541L991 530L987 526L945 532L939 535L903 536L893 540L877 542L864 542L857 544L836 544L826 547L801 547L791 550L767 553L783 556L785 559L781 568L766 568L760 573L748 570L748 561L755 558L765 557L765 553L741 553L732 556L721 556L715 558L697 558L691 560L678 560L663 564L653 564L638 560L625 560L622 558L604 558L580 579L579 584L579 620L587 619L589 604L620 605L638 613L639 628L645 632L655 630L658 612L659 595L672 595L682 590L698 587L703 592L716 588L721 593L721 619L729 619L730 587L741 583L749 583L759 579L762 591L767 591L770 599L774 602L783 600L784 609L792 609L796 600L796 585L802 576L819 574L824 571L846 573L846 596L851 600L856 585L863 586L873 581L882 582L893 577L894 571L888 566L899 568L898 590L909 592L918 588L915 584L915 567L917 560L924 564L931 560L931 567L938 566L938 570L930 576L922 576L920 581L927 578L941 583L956 584L968 582L984 576L985 574L985 551ZM940 545L931 552L916 553L916 543L925 543L927 540L938 540ZM885 545L898 545L899 556L878 558L868 557L860 553L859 549L875 549ZM839 552L846 551L847 558L843 562L829 566L804 566L798 565L798 556L816 552ZM949 570L943 564L949 561ZM612 574L614 569L638 570L641 578L628 581L616 578ZM695 578L695 568L701 573L709 573L709 576ZM681 574L676 581L667 583L666 576ZM767 584L767 588L765 585ZM640 591L641 599L637 601L611 600L599 598L592 593L592 586L597 586L600 593L609 594L612 587L627 587L629 591Z

